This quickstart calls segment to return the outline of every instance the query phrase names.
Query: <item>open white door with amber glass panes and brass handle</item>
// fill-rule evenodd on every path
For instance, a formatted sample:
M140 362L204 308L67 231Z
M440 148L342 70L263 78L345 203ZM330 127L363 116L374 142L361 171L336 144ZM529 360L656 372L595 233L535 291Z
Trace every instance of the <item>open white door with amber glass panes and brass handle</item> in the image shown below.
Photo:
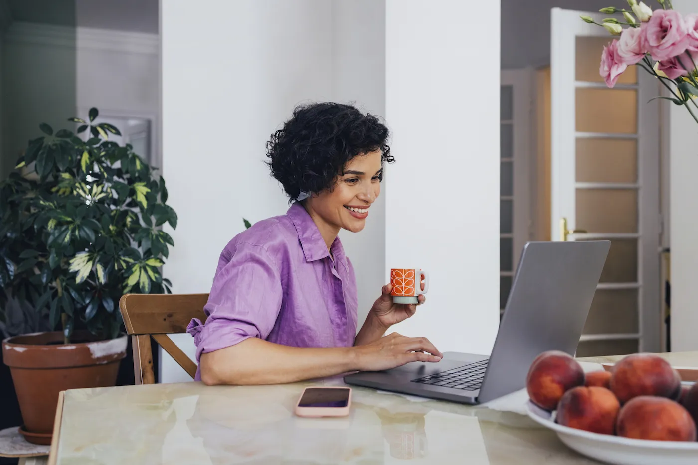
M551 15L551 238L611 250L577 355L659 351L658 83L631 66L608 89L599 65L613 37L580 15L607 17Z

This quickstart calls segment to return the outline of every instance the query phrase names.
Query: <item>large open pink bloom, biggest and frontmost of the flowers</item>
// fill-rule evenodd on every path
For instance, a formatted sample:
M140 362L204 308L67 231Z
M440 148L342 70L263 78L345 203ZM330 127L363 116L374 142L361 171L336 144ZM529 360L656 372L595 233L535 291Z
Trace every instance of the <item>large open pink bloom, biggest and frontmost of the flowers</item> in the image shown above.
M688 46L688 26L677 11L656 10L645 29L647 49L655 60L680 55Z

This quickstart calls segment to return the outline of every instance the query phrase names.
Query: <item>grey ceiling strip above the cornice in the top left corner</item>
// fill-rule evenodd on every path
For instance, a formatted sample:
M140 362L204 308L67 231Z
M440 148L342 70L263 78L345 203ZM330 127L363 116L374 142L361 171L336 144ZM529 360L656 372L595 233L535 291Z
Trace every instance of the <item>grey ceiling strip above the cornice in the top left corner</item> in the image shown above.
M13 21L158 33L158 0L6 0Z

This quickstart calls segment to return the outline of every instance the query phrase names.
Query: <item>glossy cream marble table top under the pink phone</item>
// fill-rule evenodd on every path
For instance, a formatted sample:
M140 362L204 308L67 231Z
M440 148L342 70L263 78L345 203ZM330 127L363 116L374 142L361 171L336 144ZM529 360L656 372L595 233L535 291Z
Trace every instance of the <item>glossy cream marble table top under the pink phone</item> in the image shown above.
M664 354L698 367L698 352ZM581 359L592 363L618 358ZM354 388L347 418L304 419L304 386L172 383L66 392L58 465L597 464L527 416Z

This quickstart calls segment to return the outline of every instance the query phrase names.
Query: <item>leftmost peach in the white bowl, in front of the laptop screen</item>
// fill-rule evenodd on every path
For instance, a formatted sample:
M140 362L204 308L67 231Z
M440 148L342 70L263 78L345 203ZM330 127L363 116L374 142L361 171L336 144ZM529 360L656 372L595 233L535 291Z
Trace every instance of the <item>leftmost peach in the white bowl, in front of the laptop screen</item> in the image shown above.
M562 351L547 351L533 361L526 376L531 401L541 409L555 410L563 394L584 385L584 369Z

